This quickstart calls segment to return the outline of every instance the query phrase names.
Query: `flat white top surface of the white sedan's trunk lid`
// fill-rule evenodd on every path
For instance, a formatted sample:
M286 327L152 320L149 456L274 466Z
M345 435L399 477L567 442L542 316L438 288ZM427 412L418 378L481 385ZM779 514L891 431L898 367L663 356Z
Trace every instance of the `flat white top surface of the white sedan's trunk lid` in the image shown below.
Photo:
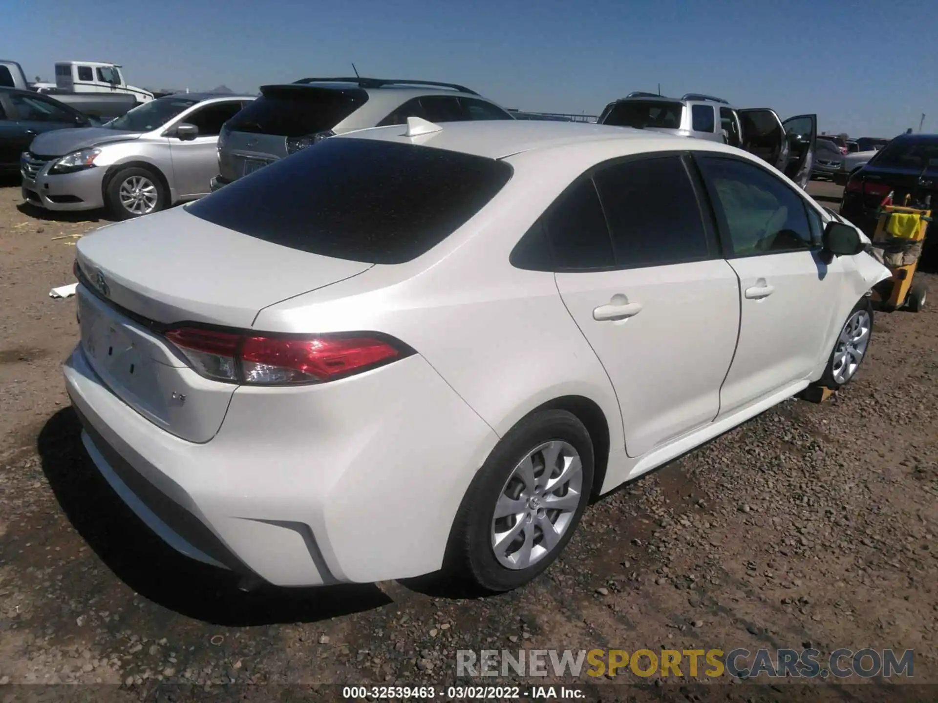
M166 210L84 236L77 247L84 277L107 297L148 320L250 328L257 313L371 268L265 242Z

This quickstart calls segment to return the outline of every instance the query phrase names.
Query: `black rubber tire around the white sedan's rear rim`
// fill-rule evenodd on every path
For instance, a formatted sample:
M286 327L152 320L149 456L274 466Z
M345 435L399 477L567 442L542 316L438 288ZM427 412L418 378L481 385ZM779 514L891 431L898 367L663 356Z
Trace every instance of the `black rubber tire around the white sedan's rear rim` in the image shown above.
M522 459L548 441L567 442L579 454L582 463L580 501L572 515L568 516L567 528L552 549L525 568L508 568L496 558L492 547L495 504L503 491L510 489L508 480ZM593 462L593 442L589 432L570 412L537 411L512 427L495 445L462 499L446 550L448 575L468 579L482 591L501 592L519 588L541 574L567 546L580 523L593 486ZM515 516L504 519L514 520ZM521 520L513 524L517 525L518 522ZM531 522L528 521L528 524ZM540 530L535 527L529 529L533 533ZM537 545L537 537L533 539Z

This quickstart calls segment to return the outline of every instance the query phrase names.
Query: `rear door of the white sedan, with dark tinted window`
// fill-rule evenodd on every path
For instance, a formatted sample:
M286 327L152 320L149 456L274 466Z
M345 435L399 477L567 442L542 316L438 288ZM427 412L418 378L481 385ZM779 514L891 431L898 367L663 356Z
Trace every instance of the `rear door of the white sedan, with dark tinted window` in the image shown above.
M557 288L613 383L628 456L714 419L736 345L736 275L687 158L601 165L544 217Z

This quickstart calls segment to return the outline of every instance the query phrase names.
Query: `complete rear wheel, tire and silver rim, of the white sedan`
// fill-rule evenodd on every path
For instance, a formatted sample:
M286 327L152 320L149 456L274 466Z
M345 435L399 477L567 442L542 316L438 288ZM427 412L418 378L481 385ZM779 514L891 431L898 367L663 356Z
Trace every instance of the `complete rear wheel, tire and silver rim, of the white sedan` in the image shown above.
M449 570L485 591L510 591L547 569L580 522L593 443L567 411L539 411L492 450L462 499Z

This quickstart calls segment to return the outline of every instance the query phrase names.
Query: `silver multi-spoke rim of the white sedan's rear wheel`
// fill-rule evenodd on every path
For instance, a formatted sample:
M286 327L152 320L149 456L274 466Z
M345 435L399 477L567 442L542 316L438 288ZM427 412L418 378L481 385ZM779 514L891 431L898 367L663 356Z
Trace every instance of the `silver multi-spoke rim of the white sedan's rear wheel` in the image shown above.
M566 441L524 456L502 487L492 515L492 551L502 566L525 569L550 554L582 501L582 461Z

